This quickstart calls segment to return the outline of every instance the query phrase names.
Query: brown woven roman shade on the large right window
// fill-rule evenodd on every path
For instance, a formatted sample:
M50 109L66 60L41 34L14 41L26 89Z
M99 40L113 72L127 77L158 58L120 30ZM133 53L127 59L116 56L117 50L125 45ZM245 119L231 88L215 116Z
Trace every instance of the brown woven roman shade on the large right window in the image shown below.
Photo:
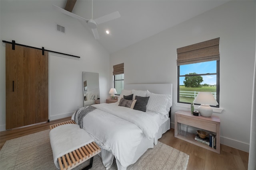
M177 49L177 66L220 60L220 38Z

